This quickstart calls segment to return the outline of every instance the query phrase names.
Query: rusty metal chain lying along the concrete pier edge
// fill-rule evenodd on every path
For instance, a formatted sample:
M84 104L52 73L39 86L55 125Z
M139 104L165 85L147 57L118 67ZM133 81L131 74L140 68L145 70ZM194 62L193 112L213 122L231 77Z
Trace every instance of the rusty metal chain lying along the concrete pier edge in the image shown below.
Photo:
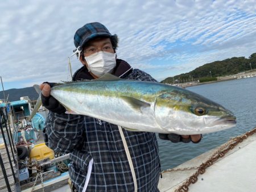
M189 177L187 179L187 181L185 181L183 183L183 185L181 185L179 187L179 189L175 190L175 192L187 192L188 186L191 183L196 183L197 177L199 176L199 174L203 174L205 172L205 169L207 169L209 166L213 165L214 162L218 160L218 158L224 157L225 154L228 153L228 151L232 150L238 143L241 143L244 139L247 139L248 136L251 136L254 133L256 133L256 127L253 128L253 130L248 131L243 135L234 137L233 139L228 141L228 143L224 144L220 149L218 149L213 154L213 156L211 156L207 161L205 161L203 164L201 164L199 166L199 168L197 169L196 173L194 173L191 177Z

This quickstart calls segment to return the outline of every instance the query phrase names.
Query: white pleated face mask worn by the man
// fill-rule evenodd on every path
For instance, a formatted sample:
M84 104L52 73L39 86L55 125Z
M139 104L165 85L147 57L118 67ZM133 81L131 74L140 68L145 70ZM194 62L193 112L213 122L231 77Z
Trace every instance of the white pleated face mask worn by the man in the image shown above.
M101 77L106 73L113 72L116 65L115 57L115 53L99 51L88 57L84 57L84 59L88 64L88 71Z

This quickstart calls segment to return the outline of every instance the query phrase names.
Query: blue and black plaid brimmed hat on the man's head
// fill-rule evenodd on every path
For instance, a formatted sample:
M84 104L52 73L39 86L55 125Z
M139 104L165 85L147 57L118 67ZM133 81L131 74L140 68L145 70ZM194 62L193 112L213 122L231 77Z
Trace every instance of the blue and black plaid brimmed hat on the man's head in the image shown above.
M80 58L82 47L91 39L98 36L110 37L113 48L117 48L118 37L116 34L110 34L109 30L101 23L93 22L87 23L79 28L74 36L74 44L76 49L73 51L73 55L77 55Z

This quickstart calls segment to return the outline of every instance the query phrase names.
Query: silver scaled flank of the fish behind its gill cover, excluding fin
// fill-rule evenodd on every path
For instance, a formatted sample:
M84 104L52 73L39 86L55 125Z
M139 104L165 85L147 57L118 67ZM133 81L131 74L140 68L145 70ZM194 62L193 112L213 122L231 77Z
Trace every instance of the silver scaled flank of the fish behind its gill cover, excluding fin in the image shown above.
M130 129L140 127L140 131L156 132L160 127L154 120L154 101L164 86L149 85L138 81L130 84L127 81L80 82L53 87L51 95L76 114L93 116ZM134 110L123 96L150 103L151 107Z

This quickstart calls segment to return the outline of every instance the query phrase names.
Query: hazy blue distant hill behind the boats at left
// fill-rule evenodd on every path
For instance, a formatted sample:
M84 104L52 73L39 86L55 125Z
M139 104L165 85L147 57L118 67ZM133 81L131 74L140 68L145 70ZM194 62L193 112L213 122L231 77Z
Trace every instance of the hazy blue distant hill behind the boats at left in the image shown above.
M24 97L24 96L28 96L31 101L38 99L38 93L36 93L34 87L5 90L5 97L7 97L8 94L9 94L8 101L18 101L20 100L20 97ZM3 91L0 91L0 99L4 99Z

